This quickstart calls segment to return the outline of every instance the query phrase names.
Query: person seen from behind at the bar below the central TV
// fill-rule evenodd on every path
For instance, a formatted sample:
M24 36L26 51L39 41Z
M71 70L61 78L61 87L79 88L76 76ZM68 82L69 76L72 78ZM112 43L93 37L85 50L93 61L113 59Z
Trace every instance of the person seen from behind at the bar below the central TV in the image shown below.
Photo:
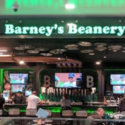
M60 105L62 108L71 108L71 100L69 99L68 94L64 94L60 101Z

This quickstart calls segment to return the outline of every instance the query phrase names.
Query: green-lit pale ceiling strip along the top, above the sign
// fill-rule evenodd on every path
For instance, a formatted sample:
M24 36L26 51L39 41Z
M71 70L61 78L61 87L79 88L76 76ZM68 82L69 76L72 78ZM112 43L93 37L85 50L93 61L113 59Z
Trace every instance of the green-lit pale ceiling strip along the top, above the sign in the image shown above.
M68 1L75 9L66 10ZM19 9L14 12L12 5ZM0 15L125 15L125 0L0 0Z

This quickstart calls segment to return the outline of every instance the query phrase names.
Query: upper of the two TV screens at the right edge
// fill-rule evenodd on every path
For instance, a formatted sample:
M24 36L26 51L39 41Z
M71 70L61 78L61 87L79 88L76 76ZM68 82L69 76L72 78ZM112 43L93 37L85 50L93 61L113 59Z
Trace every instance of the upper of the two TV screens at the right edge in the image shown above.
M125 74L111 74L111 85L125 85Z

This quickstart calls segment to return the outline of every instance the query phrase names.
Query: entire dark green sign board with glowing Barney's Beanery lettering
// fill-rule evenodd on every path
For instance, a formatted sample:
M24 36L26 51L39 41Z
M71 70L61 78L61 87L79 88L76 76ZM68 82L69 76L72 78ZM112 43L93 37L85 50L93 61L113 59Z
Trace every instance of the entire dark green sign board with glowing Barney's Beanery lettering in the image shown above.
M4 18L0 36L38 38L125 37L125 18Z

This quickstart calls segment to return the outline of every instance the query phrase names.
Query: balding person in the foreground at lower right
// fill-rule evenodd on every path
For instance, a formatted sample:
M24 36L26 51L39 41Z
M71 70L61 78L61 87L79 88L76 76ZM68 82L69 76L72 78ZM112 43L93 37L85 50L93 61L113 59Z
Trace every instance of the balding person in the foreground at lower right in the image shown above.
M88 116L87 119L90 119L90 120L87 120L85 122L85 125L103 125L102 122L92 121L92 119L102 119L103 115L104 115L103 108L98 108L97 111L95 111L92 115Z

